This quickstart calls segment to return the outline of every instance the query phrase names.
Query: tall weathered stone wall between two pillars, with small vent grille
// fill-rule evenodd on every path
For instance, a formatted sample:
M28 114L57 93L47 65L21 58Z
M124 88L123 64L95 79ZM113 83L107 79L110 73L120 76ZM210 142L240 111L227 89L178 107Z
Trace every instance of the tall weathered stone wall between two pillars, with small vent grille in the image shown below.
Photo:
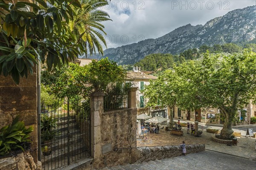
M111 152L95 158L93 168L130 163L136 152L137 108L108 111L102 114L102 144L111 143ZM122 149L121 149L122 148ZM124 149L125 148L125 149Z

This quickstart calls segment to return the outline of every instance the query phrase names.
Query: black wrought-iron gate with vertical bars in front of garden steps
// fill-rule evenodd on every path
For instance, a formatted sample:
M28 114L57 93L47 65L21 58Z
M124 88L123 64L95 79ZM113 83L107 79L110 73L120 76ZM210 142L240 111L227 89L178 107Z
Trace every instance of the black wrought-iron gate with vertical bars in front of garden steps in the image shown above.
M54 170L90 156L89 101L58 99L41 110L40 118L38 159L43 170Z

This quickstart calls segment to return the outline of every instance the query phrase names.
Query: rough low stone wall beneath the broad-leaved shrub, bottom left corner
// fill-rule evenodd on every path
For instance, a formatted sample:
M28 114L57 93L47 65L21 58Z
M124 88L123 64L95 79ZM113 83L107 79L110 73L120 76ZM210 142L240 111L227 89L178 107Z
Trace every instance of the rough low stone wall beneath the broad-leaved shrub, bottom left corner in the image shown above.
M41 162L35 163L29 152L0 159L0 170L41 170Z

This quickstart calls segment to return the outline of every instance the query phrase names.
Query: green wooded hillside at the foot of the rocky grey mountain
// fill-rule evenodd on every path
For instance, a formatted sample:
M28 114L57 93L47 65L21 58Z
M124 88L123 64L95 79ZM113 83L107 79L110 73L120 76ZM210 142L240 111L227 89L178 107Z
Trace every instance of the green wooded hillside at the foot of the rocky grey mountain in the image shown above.
M149 54L135 63L134 66L138 66L141 70L145 71L157 71L156 76L161 75L159 72L163 72L166 69L173 68L175 65L180 65L187 60L201 60L202 56L208 50L209 53L236 53L242 52L243 48L251 48L256 52L256 44L245 44L243 47L234 43L227 43L224 45L215 44L213 46L202 45L200 48L189 48L179 55L172 54ZM131 70L132 66L125 65L127 70Z

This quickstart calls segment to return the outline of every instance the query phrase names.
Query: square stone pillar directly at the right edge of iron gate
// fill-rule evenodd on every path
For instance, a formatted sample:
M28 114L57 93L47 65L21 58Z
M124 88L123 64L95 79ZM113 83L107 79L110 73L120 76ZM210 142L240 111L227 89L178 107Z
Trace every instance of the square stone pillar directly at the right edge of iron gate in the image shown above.
M90 94L90 116L91 116L91 156L96 159L102 155L102 113L103 92Z

